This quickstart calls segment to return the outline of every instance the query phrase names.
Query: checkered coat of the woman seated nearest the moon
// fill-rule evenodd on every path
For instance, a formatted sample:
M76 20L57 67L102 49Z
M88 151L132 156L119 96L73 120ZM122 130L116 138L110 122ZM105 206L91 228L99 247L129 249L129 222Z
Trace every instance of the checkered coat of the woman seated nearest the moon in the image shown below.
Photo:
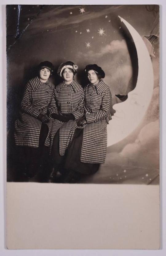
M81 162L103 164L107 151L107 124L111 119L111 92L102 79L97 85L88 84L84 91L87 124L83 127Z

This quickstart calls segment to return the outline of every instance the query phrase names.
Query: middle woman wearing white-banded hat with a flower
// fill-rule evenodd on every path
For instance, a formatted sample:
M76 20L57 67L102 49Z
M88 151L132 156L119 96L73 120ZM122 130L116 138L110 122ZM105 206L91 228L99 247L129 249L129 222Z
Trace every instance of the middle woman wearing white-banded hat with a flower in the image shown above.
M51 114L52 121L49 142L52 145L51 157L54 165L52 179L56 173L63 170L64 157L70 141L70 132L75 130L77 122L84 115L84 90L79 83L74 80L78 66L71 61L62 63L57 73L63 78L63 82L55 88L54 98L57 110Z

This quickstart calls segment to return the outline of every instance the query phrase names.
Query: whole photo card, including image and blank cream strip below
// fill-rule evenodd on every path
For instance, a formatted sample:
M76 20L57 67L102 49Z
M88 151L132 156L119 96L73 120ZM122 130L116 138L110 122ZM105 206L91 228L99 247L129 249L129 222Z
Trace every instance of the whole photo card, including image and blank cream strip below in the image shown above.
M160 249L159 5L7 5L8 249Z

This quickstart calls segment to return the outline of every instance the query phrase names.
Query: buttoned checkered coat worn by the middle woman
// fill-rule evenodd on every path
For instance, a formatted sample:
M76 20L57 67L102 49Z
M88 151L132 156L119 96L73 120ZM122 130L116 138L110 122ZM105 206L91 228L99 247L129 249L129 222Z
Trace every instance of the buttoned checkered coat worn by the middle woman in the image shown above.
M52 119L49 137L45 141L46 146L50 145L50 147L52 147L54 136L60 129L59 153L60 155L64 155L71 140L71 131L76 129L78 120L84 115L84 90L75 80L70 84L65 84L64 81L56 86L54 99L57 106L54 113L60 115L73 114L75 117L75 120L70 120L65 123Z

